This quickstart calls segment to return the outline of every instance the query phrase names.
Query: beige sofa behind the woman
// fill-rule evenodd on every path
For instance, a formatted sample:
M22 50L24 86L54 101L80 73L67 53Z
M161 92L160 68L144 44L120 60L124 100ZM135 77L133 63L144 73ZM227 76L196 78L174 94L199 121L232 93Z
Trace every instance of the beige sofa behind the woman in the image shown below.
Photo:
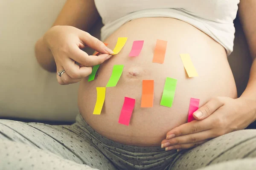
M35 42L52 25L64 2L0 1L0 117L75 119L79 84L58 85L56 74L44 71L34 55ZM235 46L229 62L241 94L247 84L251 59L239 21L235 23ZM93 35L99 37L101 26L98 22Z

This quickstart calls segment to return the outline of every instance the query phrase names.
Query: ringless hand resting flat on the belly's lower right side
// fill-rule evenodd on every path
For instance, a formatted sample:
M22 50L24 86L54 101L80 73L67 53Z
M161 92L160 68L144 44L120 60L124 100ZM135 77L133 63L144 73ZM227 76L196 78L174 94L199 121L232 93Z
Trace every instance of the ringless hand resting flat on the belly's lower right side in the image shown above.
M196 120L170 130L161 147L166 147L166 150L188 149L244 129L255 120L255 101L216 97L195 111L193 116Z

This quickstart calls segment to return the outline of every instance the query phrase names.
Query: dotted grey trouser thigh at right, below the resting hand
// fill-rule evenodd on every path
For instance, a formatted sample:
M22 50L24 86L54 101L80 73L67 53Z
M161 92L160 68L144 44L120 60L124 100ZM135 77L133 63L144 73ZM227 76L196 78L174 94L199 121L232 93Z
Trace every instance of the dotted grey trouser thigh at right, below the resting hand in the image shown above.
M256 130L239 130L181 152L172 170L195 170L224 161L256 158Z

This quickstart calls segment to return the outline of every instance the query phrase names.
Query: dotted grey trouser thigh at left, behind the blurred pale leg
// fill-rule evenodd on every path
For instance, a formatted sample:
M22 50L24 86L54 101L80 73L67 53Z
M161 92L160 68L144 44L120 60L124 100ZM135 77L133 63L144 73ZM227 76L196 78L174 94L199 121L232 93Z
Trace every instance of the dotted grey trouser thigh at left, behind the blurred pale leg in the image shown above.
M93 168L115 169L78 125L47 125L0 120L0 141L23 143ZM17 161L17 160L16 160Z

